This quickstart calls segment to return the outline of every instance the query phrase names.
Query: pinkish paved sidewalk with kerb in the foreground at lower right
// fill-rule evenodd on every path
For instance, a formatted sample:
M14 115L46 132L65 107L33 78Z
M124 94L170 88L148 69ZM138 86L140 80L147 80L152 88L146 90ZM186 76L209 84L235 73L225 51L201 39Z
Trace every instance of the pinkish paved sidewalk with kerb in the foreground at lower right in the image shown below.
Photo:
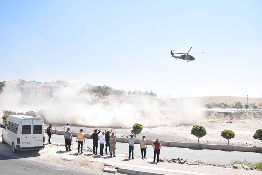
M140 175L157 175L157 174L176 174L176 175L262 175L261 171L239 170L230 168L185 165L167 162L153 162L153 159L128 159L126 157L94 156L88 154L94 159L93 162L102 162L105 165L115 166L119 173L123 174L140 174Z

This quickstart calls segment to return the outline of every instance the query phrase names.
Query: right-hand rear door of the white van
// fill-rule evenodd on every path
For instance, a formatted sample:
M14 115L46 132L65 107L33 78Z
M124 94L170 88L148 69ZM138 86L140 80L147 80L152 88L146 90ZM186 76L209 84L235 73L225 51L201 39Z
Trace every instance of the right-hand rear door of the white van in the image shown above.
M41 119L33 119L32 146L43 146L44 128Z

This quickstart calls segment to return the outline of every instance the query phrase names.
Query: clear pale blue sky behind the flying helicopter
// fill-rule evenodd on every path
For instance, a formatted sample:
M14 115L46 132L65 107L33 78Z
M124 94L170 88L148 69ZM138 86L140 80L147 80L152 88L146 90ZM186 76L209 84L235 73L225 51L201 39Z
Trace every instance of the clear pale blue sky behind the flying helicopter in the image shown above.
M260 0L2 0L0 81L258 98L261 9ZM169 48L186 53L191 46L190 53L204 53L190 62L169 58Z

